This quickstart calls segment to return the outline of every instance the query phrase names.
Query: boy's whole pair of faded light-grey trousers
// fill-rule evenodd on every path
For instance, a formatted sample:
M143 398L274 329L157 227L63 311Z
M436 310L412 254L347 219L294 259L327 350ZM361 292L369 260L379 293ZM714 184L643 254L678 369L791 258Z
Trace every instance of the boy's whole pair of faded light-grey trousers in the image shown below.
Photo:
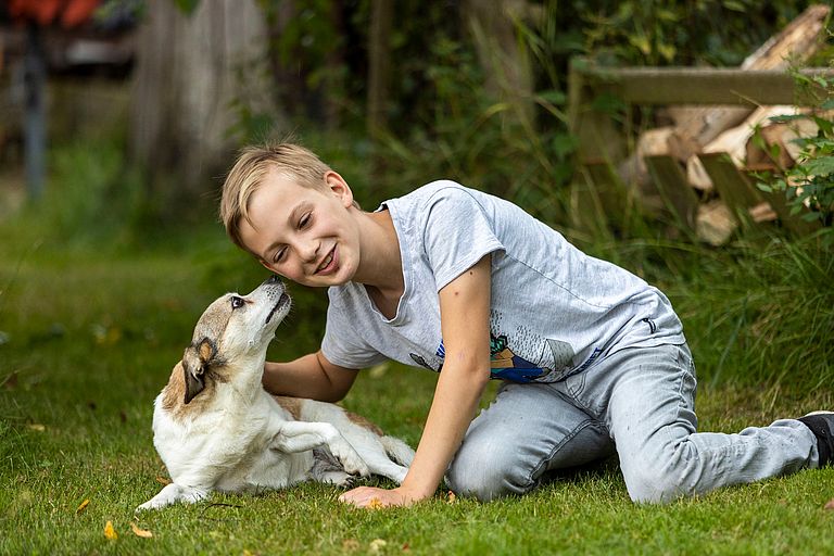
M795 419L737 434L696 429L688 348L623 349L559 382L504 384L446 478L458 494L489 501L616 450L633 501L669 502L818 466L816 437Z

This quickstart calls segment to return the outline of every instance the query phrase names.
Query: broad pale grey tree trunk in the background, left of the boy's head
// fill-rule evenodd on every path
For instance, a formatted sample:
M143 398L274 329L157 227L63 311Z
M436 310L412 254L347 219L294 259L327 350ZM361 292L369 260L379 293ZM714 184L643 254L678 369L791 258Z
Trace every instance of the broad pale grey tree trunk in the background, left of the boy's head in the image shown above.
M191 204L217 187L211 178L236 148L232 102L273 105L262 68L266 47L255 0L201 0L190 15L170 0L148 1L137 37L129 153L149 172L153 197Z

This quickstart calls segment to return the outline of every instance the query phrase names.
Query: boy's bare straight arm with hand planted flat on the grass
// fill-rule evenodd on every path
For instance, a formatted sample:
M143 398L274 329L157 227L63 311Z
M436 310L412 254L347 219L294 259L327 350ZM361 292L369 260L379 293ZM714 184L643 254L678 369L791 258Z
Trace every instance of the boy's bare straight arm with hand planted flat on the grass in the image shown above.
M403 506L430 497L460 446L490 379L491 255L440 290L445 358L417 454L403 484L361 486L340 500L365 507ZM371 502L374 501L374 502Z

